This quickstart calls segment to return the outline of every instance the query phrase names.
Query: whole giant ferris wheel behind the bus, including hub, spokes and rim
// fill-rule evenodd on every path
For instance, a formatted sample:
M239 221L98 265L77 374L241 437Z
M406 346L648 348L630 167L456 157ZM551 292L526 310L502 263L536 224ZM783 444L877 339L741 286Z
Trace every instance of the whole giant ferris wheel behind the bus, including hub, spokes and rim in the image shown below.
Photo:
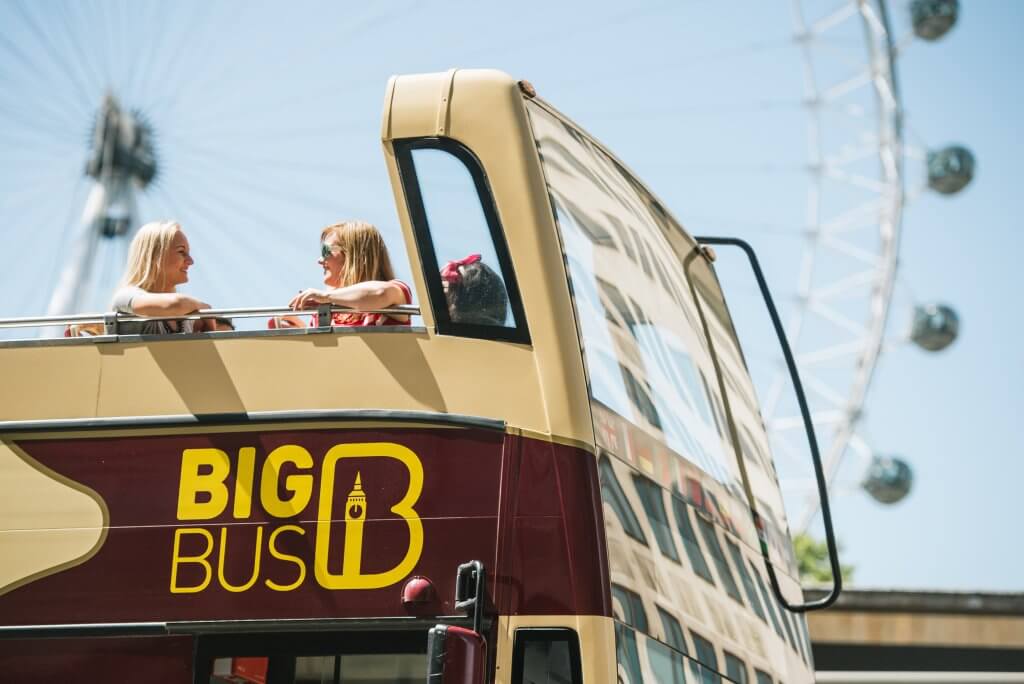
M786 141L802 158L786 187L799 193L800 207L774 221L750 214L722 220L723 211L703 210L700 198L674 191L678 177L671 173L685 166L682 156L663 160L671 171L653 186L692 231L739 233L764 248L773 288L783 295L780 308L829 480L895 503L910 486L908 462L878 451L863 430L879 358L900 341L939 351L958 329L947 304L900 305L903 213L926 189L959 191L975 167L962 145L930 148L908 138L897 59L915 41L942 38L959 7L956 0L761 4L763 15L751 22L749 36L733 37L735 17L724 17L718 44L679 59L674 48L657 49L658 41L695 42L714 17L681 16L687 8L678 3L595 9L583 17L546 5L538 8L545 17L539 25L528 12L466 19L466 7L427 11L421 3L354 11L332 3L309 14L269 16L273 8L216 2L183 2L169 11L159 2L45 9L5 0L0 24L12 29L0 41L9 86L0 95L0 137L11 154L0 168L0 220L25 255L0 275L0 289L18 295L5 298L5 313L104 308L128 241L140 223L158 218L182 220L199 262L191 285L218 306L281 301L293 292L294 273L313 261L304 249L310 230L338 216L368 217L400 246L393 209L380 209L393 202L377 143L380 93L392 73L453 65L522 73L641 177L657 180L662 151L641 124L650 116L680 119L659 103L665 87L657 80L675 79L684 93L680 101L710 102L707 110L717 117L734 105L722 100L736 99L720 94L723 83L785 50L788 61L779 58L771 68L780 83L797 86L796 94L748 110L743 127L766 130L746 147L734 145L738 156L760 156L750 166L762 175L728 168L716 175L715 162L697 160L699 177L688 185L717 197L718 206L757 197L757 186L773 182L781 168L765 161L776 154L770 144L776 130L761 122L784 105L800 131L797 144ZM417 31L402 34L410 43L406 60L390 58L381 45L410 25ZM463 40L438 43L435 37L452 27ZM225 47L228 35L239 36L244 53ZM600 49L606 39L627 41L630 49ZM531 53L537 58L527 58ZM721 73L721 65L735 58L743 60L740 68ZM536 70L543 70L540 78ZM645 82L639 73L652 76ZM654 86L656 96L644 94ZM615 112L614 98L594 96L608 91L629 99L633 111ZM583 92L587 98L573 103ZM684 128L692 129L694 144L718 134L712 144L718 149L741 133L715 128L707 118ZM759 202L784 204L768 196ZM217 255L216 263L208 255ZM395 261L408 270L408 260ZM239 271L266 263L281 276L240 283ZM735 308L742 313L742 306ZM783 488L787 479L797 482L791 522L806 529L816 500L801 488L800 468L786 466L804 462L799 413L778 350L751 348L748 360Z

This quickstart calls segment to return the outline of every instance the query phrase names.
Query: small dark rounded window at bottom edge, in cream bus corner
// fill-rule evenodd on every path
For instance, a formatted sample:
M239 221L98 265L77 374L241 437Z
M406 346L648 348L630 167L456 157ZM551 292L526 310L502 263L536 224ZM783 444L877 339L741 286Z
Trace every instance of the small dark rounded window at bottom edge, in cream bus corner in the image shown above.
M520 629L512 648L515 684L582 684L580 638L566 629Z

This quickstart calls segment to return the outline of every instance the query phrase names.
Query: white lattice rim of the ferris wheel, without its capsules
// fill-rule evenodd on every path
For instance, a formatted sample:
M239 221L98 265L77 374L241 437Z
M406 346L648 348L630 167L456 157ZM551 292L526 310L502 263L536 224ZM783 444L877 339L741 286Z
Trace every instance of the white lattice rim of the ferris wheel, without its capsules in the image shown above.
M811 182L797 286L798 306L787 322L786 334L791 340L799 340L810 315L817 315L845 333L845 337L834 344L797 353L803 381L818 398L812 412L815 429L821 436L828 435L823 440L826 446L822 463L830 484L848 448L855 450L861 457L870 456L866 442L857 434L857 427L885 343L896 284L904 202L902 106L885 0L851 0L812 24L805 20L803 4L801 0L794 0L793 14L804 67ZM818 41L851 22L862 25L865 63L844 80L820 83L815 73ZM852 93L864 90L873 94L874 130L859 140L854 149L827 154L822 145L822 110L843 108ZM862 161L868 156L879 162L878 177L845 169L851 162ZM871 197L839 214L823 215L822 185L826 179L871 190ZM845 239L853 231L864 229L877 231L877 250L865 250ZM863 268L822 282L816 277L820 275L816 268L828 252L861 262ZM850 295L862 296L865 288L869 290L866 310L851 315L843 309L842 302ZM815 373L818 365L840 358L848 359L855 369L852 380L844 386L837 386ZM788 450L785 433L801 428L803 423L799 415L777 415L785 387L786 379L781 374L776 375L766 396L765 420L773 443ZM809 497L795 520L795 529L807 529L817 513L817 497Z

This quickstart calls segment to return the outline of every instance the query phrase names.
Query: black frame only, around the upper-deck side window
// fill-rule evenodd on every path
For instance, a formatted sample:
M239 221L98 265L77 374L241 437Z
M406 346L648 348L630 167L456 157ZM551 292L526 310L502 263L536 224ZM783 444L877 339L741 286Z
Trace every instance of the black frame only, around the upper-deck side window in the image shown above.
M483 170L480 160L469 147L447 137L400 138L394 140L393 145L395 160L398 164L398 176L406 194L406 206L413 223L413 234L416 239L416 246L420 255L420 268L423 271L423 280L427 284L427 296L434 313L434 327L437 334L469 337L479 340L514 342L525 345L531 344L525 309L522 305L522 296L519 292L515 269L512 267L512 257L509 254L508 240L506 239L501 220L498 217L498 207L495 204L495 197L490 191L490 184L487 181L487 175ZM430 234L430 223L427 220L427 210L423 203L420 180L416 173L416 164L413 161L413 151L415 149L445 152L462 162L466 170L469 171L477 198L480 201L480 208L487 222L487 230L495 246L498 265L501 268L502 277L505 282L505 291L509 297L509 308L512 311L513 327L484 326L479 324L455 323L452 320L447 301L444 298L440 272L437 268L437 253L434 250L434 243Z

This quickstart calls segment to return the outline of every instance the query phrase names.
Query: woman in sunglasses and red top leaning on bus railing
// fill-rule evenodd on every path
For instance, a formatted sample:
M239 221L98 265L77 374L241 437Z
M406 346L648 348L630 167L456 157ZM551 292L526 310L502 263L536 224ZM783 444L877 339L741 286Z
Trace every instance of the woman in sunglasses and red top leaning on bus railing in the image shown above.
M380 231L366 221L342 221L321 231L321 258L316 263L324 269L327 288L302 290L288 305L295 309L315 308L317 304L335 304L355 309L332 316L334 326L408 326L408 315L360 313L412 304L409 286L395 280L391 258ZM314 316L315 318L315 316ZM283 327L301 327L295 316L284 316ZM315 320L313 323L315 324Z

